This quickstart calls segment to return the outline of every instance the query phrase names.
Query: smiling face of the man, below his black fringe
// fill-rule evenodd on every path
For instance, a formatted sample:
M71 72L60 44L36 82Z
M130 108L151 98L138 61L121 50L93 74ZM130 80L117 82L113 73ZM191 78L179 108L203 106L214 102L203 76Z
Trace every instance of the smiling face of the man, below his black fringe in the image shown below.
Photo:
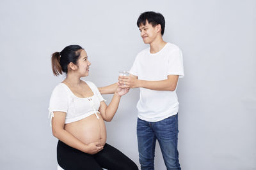
M153 27L151 24L148 24L148 20L146 20L146 24L140 24L140 36L143 39L145 44L150 44L156 39L157 36L157 25Z

